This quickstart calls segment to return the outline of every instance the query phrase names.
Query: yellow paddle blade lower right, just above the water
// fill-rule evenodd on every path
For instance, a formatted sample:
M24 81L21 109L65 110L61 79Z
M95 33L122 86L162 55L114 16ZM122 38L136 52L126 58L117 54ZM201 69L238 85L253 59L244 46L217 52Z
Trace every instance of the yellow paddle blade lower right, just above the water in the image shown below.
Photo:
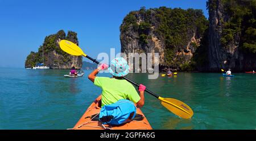
M179 101L174 98L163 98L163 97L159 97L158 99L162 101L161 103L164 107L166 107L172 113L176 114L181 118L188 119L188 118L191 118L194 114L192 109L182 101Z

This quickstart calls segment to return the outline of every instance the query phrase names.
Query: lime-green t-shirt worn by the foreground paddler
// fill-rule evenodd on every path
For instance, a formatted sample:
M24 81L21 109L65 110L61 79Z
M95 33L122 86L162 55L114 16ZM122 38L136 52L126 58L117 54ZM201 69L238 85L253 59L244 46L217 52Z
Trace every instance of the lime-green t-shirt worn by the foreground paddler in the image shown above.
M126 80L118 80L109 77L96 77L94 85L102 89L101 106L110 105L120 99L130 99L137 103L141 97L134 86Z

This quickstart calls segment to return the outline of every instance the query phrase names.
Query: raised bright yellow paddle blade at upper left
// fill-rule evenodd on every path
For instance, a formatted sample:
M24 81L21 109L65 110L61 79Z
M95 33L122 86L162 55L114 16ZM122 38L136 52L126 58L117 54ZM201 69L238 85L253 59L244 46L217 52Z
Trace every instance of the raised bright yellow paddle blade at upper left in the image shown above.
M82 49L77 46L75 43L70 42L69 40L61 40L60 41L60 48L64 51L69 53L70 55L75 56L86 56Z

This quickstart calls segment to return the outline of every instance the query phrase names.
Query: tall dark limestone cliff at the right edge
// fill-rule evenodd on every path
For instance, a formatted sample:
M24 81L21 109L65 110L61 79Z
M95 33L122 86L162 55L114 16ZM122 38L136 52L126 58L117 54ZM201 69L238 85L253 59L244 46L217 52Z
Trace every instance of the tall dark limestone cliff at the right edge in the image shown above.
M256 67L256 2L209 0L208 71Z

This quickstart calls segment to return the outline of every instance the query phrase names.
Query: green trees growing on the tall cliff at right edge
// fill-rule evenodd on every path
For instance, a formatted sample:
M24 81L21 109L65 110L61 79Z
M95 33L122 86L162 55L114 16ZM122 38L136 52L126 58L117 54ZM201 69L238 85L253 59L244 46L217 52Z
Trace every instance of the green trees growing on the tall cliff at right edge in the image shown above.
M221 43L228 48L230 43L239 42L240 50L246 53L256 53L256 1L224 0L221 1L228 21L224 24ZM214 7L214 5L211 5ZM240 38L240 40L238 39Z

